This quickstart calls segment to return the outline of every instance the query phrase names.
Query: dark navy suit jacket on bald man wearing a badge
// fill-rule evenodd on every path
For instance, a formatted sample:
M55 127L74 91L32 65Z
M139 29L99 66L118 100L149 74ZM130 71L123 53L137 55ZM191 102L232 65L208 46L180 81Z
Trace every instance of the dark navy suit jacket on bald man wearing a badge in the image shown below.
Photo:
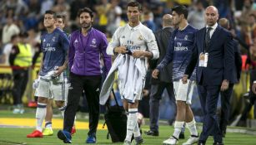
M199 55L204 51L204 37L206 27L195 34L193 55L187 66L185 74L188 78L198 65ZM208 46L208 65L198 67L197 82L199 85L221 85L223 80L233 81L234 53L231 33L223 27L218 26L213 32Z

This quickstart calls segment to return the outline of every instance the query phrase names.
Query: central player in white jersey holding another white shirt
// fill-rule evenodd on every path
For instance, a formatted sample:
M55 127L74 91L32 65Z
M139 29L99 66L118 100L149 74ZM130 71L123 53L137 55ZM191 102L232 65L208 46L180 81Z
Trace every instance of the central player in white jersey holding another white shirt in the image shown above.
M108 78L112 78L109 76L113 76L114 71L118 70L118 87L123 97L123 107L128 111L127 133L123 144L131 144L133 134L136 144L143 143L137 122L138 100L142 98L148 58L158 59L159 56L153 31L139 21L141 12L142 7L138 2L128 2L128 24L118 27L107 48L109 55L118 55ZM112 88L108 86L108 78L101 91L101 104L105 103L102 99L108 98L104 91Z

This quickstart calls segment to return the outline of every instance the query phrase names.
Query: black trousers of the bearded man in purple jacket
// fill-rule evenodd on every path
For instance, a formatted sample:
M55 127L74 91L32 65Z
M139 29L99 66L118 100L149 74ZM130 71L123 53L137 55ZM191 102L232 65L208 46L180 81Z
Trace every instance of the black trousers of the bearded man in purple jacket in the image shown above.
M99 87L101 75L75 75L70 73L71 86L68 91L68 104L64 114L63 130L71 133L79 99L84 90L88 101L89 110L89 133L96 133L99 119Z

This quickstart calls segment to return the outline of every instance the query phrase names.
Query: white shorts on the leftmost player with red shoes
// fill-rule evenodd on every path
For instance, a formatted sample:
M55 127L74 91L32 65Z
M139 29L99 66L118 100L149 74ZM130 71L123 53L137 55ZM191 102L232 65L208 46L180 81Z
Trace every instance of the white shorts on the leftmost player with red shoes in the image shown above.
M68 84L64 81L55 82L54 80L40 78L38 88L35 90L35 96L66 101L68 100Z

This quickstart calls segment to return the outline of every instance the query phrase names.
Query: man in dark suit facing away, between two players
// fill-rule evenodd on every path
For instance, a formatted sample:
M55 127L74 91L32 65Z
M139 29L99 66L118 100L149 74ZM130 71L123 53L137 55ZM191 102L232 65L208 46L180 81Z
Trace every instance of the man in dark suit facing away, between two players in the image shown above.
M173 32L173 22L172 15L165 14L163 16L163 29L155 32L156 41L158 42L158 49L160 56L158 60L150 60L149 67L151 70L154 70L157 65L163 60L163 57L166 54L168 49L168 41L170 40L171 34ZM158 79L152 78L151 80L151 89L150 89L150 99L149 99L149 118L150 118L150 130L146 131L145 134L158 136L158 118L159 118L159 102L162 99L163 90L167 89L168 96L173 104L175 104L175 98L173 93L173 65L170 63L167 65L164 70L161 72Z

